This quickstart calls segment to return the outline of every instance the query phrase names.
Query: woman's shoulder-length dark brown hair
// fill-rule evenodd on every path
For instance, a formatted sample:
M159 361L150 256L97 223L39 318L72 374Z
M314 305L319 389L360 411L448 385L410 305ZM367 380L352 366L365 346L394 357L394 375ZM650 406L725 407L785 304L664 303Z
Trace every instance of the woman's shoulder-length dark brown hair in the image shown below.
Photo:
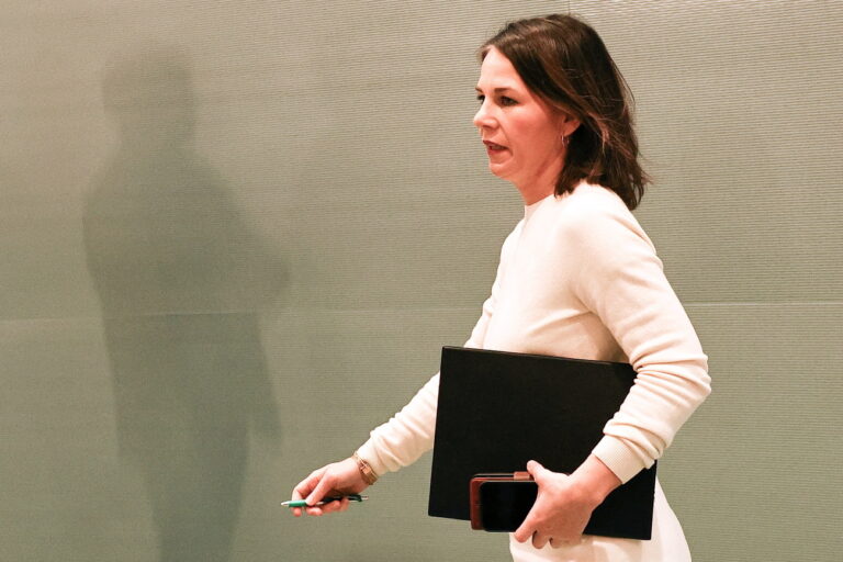
M557 180L557 194L582 180L615 191L632 210L650 178L638 161L632 93L603 40L571 15L508 23L481 47L498 49L527 87L551 106L578 120Z

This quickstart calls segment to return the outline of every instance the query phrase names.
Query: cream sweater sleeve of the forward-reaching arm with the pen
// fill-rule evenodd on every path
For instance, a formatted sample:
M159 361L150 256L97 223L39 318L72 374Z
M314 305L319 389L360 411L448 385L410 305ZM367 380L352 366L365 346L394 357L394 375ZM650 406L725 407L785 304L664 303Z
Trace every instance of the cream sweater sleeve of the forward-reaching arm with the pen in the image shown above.
M509 251L508 248L513 244L517 229L518 226L504 241L492 294L483 303L482 314L465 347L483 347L504 276L505 256ZM439 373L436 373L401 412L371 431L369 440L358 449L358 454L369 462L375 474L394 472L402 467L407 467L434 447L438 397Z

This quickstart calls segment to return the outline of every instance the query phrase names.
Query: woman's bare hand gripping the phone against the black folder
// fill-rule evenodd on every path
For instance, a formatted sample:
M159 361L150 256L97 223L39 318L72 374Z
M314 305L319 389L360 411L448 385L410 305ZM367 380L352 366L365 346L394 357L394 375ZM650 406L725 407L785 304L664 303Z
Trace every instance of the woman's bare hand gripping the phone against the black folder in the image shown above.
M524 524L515 531L515 540L532 538L537 549L580 542L592 512L620 485L620 480L596 457L588 459L570 476L551 472L536 461L527 470L539 485L536 504Z

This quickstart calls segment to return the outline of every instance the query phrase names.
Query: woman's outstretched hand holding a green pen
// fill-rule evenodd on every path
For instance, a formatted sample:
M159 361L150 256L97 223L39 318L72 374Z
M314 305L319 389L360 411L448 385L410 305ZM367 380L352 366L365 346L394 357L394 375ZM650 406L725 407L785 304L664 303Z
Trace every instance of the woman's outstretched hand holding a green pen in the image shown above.
M348 498L340 502L330 502L325 505L315 505L326 496L344 496L348 494L359 494L369 487L363 480L363 475L352 458L339 462L333 462L311 473L310 476L299 483L293 488L293 499L306 499L308 506L305 509L293 507L295 517L301 517L302 513L307 515L324 515L334 512L345 512L348 509Z

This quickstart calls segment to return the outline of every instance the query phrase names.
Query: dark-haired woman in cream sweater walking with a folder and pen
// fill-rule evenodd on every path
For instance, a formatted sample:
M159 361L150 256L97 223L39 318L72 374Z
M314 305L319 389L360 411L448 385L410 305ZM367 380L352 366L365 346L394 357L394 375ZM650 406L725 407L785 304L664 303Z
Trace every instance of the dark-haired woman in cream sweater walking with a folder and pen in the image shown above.
M710 392L694 328L630 213L648 179L623 79L594 30L569 15L513 22L482 47L481 58L474 124L492 172L524 198L525 217L504 243L492 295L467 347L628 361L638 372L576 471L528 463L539 495L510 536L513 558L690 560L660 486L652 540L582 535L594 508L652 465ZM432 446L437 391L435 375L352 458L313 472L293 497L314 505L357 493L414 462ZM305 510L347 507L344 499Z

